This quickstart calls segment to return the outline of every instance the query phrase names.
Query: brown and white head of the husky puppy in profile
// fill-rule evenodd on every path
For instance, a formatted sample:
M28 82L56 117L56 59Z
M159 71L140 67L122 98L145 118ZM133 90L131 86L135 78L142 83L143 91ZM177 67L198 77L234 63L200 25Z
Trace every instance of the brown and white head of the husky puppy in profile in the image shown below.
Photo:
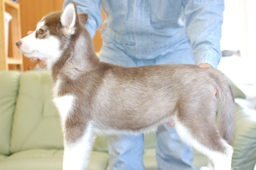
M47 66L52 66L79 34L79 27L86 25L88 17L87 13L78 14L76 4L70 3L63 11L47 14L37 23L34 33L16 45L28 58L47 59Z

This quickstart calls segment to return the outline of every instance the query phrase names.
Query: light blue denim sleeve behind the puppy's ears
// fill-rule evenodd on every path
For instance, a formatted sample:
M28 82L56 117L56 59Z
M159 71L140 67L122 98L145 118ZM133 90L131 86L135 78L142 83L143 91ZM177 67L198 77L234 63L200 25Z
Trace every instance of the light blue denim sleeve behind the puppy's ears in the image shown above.
M70 2L76 3L78 13L89 13L89 19L85 27L93 38L102 23L102 15L100 12L101 0L65 0L63 9L65 9Z

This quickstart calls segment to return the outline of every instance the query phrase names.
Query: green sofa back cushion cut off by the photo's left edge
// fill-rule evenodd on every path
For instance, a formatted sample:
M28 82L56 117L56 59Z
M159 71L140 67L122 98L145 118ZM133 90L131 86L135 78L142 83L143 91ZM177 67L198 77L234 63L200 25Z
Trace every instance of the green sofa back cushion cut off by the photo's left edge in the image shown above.
M0 154L3 155L10 154L12 119L20 75L19 71L0 71Z

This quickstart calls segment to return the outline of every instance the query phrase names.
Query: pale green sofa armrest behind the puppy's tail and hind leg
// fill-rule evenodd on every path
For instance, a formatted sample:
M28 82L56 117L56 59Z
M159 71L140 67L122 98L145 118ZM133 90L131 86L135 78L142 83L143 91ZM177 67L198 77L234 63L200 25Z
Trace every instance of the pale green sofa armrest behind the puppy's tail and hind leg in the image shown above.
M232 167L253 170L256 163L256 111L236 103L236 133Z

